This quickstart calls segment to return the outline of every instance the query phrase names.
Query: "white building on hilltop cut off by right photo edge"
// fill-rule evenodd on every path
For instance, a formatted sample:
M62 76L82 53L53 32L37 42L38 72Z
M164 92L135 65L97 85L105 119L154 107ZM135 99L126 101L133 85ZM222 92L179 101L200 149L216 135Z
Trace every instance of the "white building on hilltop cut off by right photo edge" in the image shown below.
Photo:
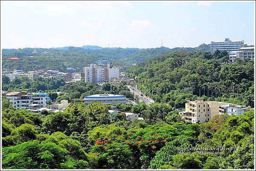
M231 63L234 63L236 59L240 59L241 61L244 61L247 58L254 60L254 47L239 48L238 51L230 52L229 56Z

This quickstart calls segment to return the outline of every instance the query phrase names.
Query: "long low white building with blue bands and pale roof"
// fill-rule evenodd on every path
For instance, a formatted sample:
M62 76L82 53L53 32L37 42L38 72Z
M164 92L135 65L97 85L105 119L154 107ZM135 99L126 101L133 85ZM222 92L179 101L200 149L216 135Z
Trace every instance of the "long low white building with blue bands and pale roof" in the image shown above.
M91 96L84 96L84 103L90 104L92 102L101 102L104 104L125 104L126 96L114 94L95 94Z

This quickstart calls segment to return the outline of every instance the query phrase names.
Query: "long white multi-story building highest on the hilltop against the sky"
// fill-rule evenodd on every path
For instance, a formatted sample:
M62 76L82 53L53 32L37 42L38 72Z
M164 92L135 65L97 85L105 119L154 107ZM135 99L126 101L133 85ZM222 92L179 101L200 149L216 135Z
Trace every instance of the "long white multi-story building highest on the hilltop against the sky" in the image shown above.
M217 49L220 51L238 51L244 47L244 40L230 41L230 38L225 38L225 41L211 41L211 52L214 53Z

